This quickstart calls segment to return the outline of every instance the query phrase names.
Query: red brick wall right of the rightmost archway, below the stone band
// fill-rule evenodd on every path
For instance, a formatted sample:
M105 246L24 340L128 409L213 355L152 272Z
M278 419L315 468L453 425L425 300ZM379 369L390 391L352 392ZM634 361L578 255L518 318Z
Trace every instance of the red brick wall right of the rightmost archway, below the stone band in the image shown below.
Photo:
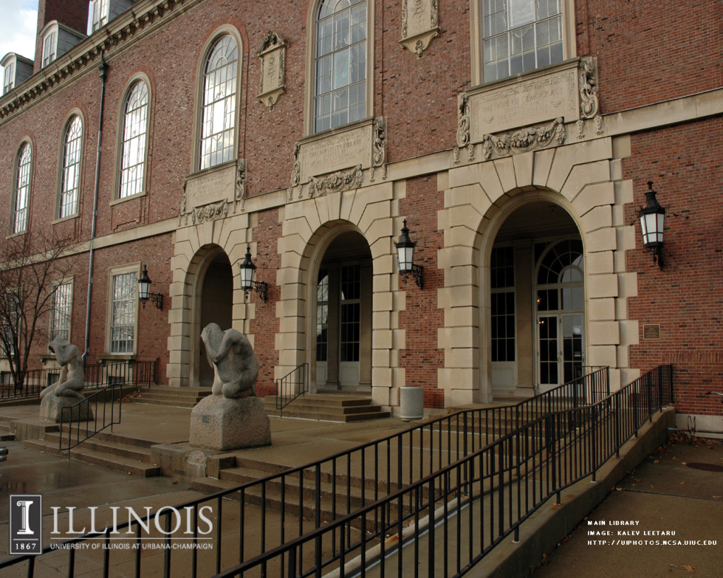
M630 364L646 371L673 363L682 413L720 412L702 395L723 389L722 146L723 120L714 118L635 135L633 155L623 161L635 192L626 220L637 221L649 180L667 210L663 269L643 249L637 222L637 248L627 255L628 271L638 275L629 314L641 324ZM643 339L643 324L659 324L660 340Z

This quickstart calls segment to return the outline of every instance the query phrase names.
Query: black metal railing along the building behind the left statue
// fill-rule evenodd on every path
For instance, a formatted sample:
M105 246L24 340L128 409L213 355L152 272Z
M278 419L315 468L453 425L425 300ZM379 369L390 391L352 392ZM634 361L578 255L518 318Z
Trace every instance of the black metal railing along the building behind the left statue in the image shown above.
M151 385L155 383L155 361L111 361L107 363L93 363L84 366L84 389L97 389L121 379L125 384L134 386ZM0 381L0 401L20 400L40 397L40 392L48 385L54 384L60 377L61 368L31 369L27 371L23 388L14 389L9 380L9 372L3 372Z

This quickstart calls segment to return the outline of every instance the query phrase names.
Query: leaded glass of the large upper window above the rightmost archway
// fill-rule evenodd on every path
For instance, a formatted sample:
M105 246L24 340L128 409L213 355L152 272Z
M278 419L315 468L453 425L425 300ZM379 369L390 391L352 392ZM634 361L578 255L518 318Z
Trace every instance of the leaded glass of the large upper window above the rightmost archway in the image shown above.
M484 82L561 62L562 0L482 0Z

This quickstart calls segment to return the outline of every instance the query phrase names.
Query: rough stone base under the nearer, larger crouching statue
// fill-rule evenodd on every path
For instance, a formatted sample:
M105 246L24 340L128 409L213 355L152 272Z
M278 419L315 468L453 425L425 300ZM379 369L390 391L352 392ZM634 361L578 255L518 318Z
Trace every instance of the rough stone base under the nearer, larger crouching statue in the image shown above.
M227 451L271 445L271 423L258 397L233 400L209 395L191 412L193 447Z

